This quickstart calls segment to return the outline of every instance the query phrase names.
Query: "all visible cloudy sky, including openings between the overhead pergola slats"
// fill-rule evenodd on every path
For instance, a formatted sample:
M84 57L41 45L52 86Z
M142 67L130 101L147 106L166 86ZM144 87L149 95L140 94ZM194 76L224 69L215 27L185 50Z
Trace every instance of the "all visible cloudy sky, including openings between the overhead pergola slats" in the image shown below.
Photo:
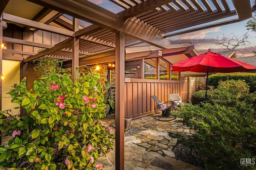
M107 10L110 10L114 13L118 13L118 12L124 10L108 0L89 0L89 1L101 6ZM209 2L212 5L212 1L209 0ZM230 9L234 10L232 0L228 0L228 4L230 5ZM254 15L255 14L253 14L253 16ZM226 18L224 20L230 20L230 19L234 19L234 18L237 18L237 16ZM190 42L190 43L192 43L192 45L194 45L196 51L199 54L207 52L208 49L211 49L211 51L217 53L219 51L223 51L223 49L221 48L221 46L216 46L212 42L212 39L216 39L217 37L223 37L223 35L226 36L227 38L231 38L232 35L235 35L236 37L239 38L239 37L242 37L246 32L248 32L249 38L247 39L247 41L249 41L250 44L247 47L241 47L241 48L237 48L237 49L239 51L244 51L244 49L246 48L247 53L243 57L253 56L254 55L253 51L256 51L256 33L252 32L252 31L248 31L246 29L245 26L246 26L246 23L248 20L244 20L244 21L241 21L238 23L223 25L223 26L219 26L219 27L213 27L210 29L204 29L201 31L195 31L195 32L187 33L187 34L183 34L183 35L177 35L174 37L168 37L168 39L171 40L172 44ZM223 20L220 20L220 21L223 21ZM217 21L217 22L219 22L219 21ZM210 24L210 23L208 23L208 24ZM202 26L202 25L197 25L196 27L199 27L199 26ZM169 34L169 33L167 33L167 34ZM239 51L236 51L236 53L238 56L241 56L242 54Z

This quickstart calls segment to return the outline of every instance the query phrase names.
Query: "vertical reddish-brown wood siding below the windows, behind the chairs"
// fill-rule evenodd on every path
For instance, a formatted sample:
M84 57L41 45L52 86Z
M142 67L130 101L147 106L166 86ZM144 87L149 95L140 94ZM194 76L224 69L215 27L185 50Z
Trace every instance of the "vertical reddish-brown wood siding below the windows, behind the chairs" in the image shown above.
M188 99L188 79L152 80L131 78L125 83L125 115L132 118L144 117L159 112L151 96L168 101L167 94L178 93L182 100Z

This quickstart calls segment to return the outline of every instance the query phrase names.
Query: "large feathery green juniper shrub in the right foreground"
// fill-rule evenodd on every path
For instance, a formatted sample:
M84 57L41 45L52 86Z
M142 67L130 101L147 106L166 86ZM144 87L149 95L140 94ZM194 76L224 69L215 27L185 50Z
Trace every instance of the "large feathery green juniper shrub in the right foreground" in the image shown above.
M236 81L222 82L213 90L210 103L185 106L176 114L182 118L179 121L196 130L183 144L198 150L205 169L252 169L240 166L240 159L256 156L256 97L239 92L232 82Z

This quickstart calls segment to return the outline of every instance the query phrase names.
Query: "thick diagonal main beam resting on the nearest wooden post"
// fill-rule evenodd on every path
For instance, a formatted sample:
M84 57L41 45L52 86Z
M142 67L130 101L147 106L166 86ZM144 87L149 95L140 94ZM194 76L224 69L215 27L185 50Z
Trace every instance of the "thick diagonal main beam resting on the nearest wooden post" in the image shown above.
M164 39L162 35L158 35L158 30L154 27L152 29L148 29L144 27L138 22L126 20L123 23L123 18L118 15L109 12L108 10L97 6L88 1L73 1L73 0L29 0L30 2L35 2L36 4L40 4L42 6L47 6L48 8L56 8L58 11L62 13L69 14L73 17L89 21L90 23L94 23L100 27L104 27L109 29L110 31L119 30L126 35L134 39L139 39L146 43L156 45L158 47L167 48L170 45L170 41L168 39ZM160 1L160 0L158 0ZM60 6L59 4L62 4ZM78 10L79 8L79 10ZM84 13L83 11L86 11ZM137 24L139 23L139 24ZM157 30L154 31L154 30ZM138 31L140 33L138 33ZM146 36L147 34L148 36ZM147 38L149 37L149 38Z

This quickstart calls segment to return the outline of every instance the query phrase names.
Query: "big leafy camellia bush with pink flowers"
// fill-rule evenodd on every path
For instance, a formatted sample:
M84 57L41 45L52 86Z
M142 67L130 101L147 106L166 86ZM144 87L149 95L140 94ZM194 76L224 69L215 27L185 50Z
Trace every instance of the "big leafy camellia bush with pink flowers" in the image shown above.
M79 73L78 73L79 74ZM114 135L100 124L105 117L100 74L89 72L71 80L70 74L54 73L34 81L26 78L8 94L26 110L23 117L0 114L0 130L12 136L0 147L0 169L91 170L114 146Z

